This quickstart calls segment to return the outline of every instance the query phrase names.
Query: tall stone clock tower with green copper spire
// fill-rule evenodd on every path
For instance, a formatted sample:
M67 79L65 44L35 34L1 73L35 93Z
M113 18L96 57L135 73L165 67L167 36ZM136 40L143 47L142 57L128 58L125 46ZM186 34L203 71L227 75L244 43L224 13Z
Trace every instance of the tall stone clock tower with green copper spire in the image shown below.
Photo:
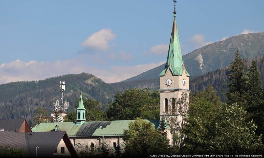
M174 8L174 18L171 31L171 40L167 63L164 70L159 74L159 94L161 98L160 120L169 109L175 108L175 102L181 98L182 93L189 95L189 77L182 61L180 40L176 23L176 11Z

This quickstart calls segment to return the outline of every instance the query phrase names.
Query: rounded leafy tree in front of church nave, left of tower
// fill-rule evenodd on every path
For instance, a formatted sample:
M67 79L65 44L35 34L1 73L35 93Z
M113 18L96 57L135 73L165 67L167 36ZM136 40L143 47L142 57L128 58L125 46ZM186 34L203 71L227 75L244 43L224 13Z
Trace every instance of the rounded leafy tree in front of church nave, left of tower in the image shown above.
M149 121L136 118L124 130L125 152L131 157L170 153L169 141Z

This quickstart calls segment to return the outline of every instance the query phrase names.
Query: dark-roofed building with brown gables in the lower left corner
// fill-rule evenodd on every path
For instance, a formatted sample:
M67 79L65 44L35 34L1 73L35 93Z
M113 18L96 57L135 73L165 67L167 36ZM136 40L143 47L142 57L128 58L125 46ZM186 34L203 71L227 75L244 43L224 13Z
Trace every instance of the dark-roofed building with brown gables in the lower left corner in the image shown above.
M65 131L32 132L25 119L0 120L0 128L0 146L21 148L28 157L77 157Z

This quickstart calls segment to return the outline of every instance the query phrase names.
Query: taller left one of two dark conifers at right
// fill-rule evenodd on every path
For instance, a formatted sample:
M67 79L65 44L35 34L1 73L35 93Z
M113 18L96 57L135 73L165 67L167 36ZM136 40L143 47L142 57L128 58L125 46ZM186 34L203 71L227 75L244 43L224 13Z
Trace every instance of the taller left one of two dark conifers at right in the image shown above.
M247 108L245 104L247 97L246 90L246 77L244 75L245 63L241 58L239 50L235 51L234 60L229 65L229 80L230 84L227 84L229 88L226 96L228 98L228 103L237 103L239 106Z

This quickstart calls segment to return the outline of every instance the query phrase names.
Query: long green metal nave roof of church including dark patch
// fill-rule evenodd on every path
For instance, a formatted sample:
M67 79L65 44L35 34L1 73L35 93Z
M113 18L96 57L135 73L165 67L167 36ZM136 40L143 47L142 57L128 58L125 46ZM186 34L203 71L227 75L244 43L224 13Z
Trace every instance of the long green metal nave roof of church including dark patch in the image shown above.
M119 121L91 121L84 122L82 125L76 125L74 122L59 123L39 123L33 132L55 131L55 126L61 127L60 131L66 131L69 137L85 137L85 136L122 136L123 129L128 129L129 122L135 120L119 120ZM158 119L145 120L153 123L157 129L159 126Z

